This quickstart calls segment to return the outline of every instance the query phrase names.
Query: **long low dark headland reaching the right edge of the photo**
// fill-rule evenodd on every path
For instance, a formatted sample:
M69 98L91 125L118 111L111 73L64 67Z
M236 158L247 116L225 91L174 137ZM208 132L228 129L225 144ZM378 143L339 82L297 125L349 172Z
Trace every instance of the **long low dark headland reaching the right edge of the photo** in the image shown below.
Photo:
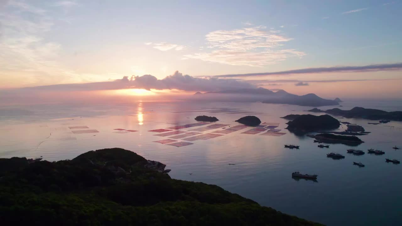
M371 120L394 120L402 121L402 111L382 111L377 109L369 109L363 107L354 107L351 110L341 110L339 108L333 108L326 111L322 111L317 108L308 110L310 112L325 112L331 115L340 115L345 118L362 118Z

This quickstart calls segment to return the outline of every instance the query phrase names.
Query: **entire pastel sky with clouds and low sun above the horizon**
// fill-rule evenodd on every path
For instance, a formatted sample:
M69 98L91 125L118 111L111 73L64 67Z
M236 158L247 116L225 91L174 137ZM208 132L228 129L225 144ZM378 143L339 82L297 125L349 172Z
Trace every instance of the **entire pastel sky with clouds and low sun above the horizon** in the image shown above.
M0 89L397 98L400 12L400 0L0 0Z

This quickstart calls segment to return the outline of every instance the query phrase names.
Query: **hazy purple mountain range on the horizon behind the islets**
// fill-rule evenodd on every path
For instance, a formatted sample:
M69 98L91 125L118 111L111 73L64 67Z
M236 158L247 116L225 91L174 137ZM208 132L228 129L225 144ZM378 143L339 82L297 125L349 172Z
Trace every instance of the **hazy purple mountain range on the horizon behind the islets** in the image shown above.
M248 88L205 93L196 92L194 96L197 96L197 98L207 98L213 100L230 99L231 101L261 101L262 103L277 103L312 107L339 105L338 101L340 101L338 98L335 100L323 99L314 93L299 96L286 92L285 90L273 92L266 88Z

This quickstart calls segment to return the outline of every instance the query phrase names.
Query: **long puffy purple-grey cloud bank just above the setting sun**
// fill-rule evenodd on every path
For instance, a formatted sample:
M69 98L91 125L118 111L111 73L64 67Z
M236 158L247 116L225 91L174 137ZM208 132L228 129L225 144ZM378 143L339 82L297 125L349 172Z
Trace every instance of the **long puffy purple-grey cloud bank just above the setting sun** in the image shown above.
M176 71L174 74L164 79L158 79L155 76L146 74L143 76L124 76L107 82L90 82L75 84L57 84L49 86L35 86L22 88L23 90L53 90L53 91L73 91L73 90L117 90L128 88L142 89L178 89L184 91L220 91L242 88L256 88L256 86L235 79L222 78L195 78L189 75L183 75Z

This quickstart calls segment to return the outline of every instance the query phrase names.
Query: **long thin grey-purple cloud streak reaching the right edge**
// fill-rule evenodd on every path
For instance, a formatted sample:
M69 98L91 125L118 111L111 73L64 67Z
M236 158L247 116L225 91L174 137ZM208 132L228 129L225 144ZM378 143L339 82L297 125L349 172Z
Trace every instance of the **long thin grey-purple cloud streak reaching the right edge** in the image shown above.
M284 75L284 74L319 74L319 73L349 73L349 72L378 72L378 71L397 71L402 70L402 63L396 64L372 64L366 66L335 66L327 68L302 68L296 70L287 70L279 72L262 72L249 74L224 74L216 75L215 77L252 77L252 76L267 76L267 75Z

